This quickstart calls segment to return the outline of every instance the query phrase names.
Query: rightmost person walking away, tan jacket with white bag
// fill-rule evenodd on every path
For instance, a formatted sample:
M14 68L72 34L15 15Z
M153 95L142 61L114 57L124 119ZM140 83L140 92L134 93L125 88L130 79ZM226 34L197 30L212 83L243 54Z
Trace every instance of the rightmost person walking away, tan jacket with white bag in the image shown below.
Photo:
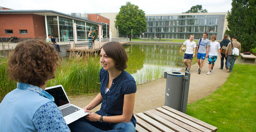
M241 44L236 40L237 36L233 36L232 37L232 42L229 43L227 50L226 50L226 57L228 58L228 62L227 62L227 71L231 72L234 66L234 62L236 60L236 58L238 58L237 56L232 55L232 49L233 47L238 48L239 49L239 53L241 52ZM232 46L233 44L233 46Z

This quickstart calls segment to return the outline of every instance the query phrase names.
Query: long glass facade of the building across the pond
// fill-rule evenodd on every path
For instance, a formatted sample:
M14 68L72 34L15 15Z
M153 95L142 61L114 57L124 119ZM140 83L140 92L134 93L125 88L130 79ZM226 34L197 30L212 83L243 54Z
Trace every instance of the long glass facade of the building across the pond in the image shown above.
M147 29L144 37L154 38L155 33L155 36L161 38L188 39L190 34L194 34L194 39L199 39L204 32L208 33L208 39L213 34L221 33L222 36L223 28L218 31L219 17L220 15L146 15ZM223 23L224 20L221 24Z

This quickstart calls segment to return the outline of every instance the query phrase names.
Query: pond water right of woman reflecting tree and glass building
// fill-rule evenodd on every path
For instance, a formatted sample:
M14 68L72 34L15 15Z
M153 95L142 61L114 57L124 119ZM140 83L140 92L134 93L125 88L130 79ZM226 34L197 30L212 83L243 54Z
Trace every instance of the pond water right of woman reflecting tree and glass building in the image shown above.
M124 48L128 54L126 71L132 74L139 84L150 81L148 78L154 80L163 77L164 71L179 71L184 67L185 53L179 52L181 45L132 43L124 45ZM196 59L193 60L195 63ZM156 75L155 71L159 73ZM160 77L154 77L159 75Z

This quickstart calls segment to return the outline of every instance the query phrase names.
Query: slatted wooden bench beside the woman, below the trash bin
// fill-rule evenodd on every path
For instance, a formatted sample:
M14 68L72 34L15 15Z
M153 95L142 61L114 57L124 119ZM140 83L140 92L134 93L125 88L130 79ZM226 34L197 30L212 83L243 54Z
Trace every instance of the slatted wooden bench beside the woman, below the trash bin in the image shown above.
M136 114L136 132L216 132L218 128L163 106Z

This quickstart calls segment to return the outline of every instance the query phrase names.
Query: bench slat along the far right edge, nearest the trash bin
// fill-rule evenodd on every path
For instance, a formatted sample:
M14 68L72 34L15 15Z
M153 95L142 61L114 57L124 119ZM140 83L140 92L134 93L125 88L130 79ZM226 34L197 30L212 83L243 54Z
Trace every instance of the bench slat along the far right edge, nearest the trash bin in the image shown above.
M191 120L191 121L193 121L193 122L196 123L196 124L199 124L199 125L201 125L201 126L204 126L204 127L206 127L207 129L212 130L212 132L216 132L217 129L218 129L218 128L216 128L216 127L210 125L210 124L207 124L207 123L203 122L202 120L198 120L198 119L196 119L196 118L194 118L194 117L192 117L192 116L190 116L190 115L187 115L187 114L185 114L185 113L182 113L181 111L177 111L177 110L175 110L175 109L173 109L173 108L171 108L171 107L163 106L162 108L164 108L164 109L166 109L166 110L168 110L168 111L171 111L172 113L175 113L175 114L177 114L177 115L180 115L181 117L184 117L184 118L187 119L187 120Z

